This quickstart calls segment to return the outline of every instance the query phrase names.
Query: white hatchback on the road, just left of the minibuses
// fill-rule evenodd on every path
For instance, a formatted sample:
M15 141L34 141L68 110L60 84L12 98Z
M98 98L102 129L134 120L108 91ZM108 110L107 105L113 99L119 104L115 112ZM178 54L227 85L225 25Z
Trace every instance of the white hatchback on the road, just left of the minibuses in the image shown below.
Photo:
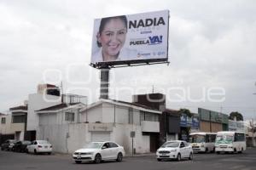
M183 158L193 159L192 147L183 140L167 141L160 149L156 151L157 161L166 159L176 159L180 161Z

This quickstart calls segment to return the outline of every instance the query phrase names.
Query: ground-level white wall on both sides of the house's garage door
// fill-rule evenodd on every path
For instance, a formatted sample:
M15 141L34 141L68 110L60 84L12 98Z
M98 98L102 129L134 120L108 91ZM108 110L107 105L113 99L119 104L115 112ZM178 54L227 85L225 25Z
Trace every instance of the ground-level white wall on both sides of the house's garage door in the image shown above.
M48 139L53 144L55 152L73 153L90 142L89 125L90 123L39 126L37 139ZM140 126L115 124L113 131L110 132L110 139L124 146L126 154L131 154L131 131L136 132L133 143L136 152L148 153L150 139L149 136L143 136Z

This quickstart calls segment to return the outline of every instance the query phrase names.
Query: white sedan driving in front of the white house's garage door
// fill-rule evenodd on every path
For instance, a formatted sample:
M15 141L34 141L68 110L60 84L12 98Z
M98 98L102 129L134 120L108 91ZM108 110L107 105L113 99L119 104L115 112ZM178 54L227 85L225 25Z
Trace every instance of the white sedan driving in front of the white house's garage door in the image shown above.
M82 149L76 150L73 153L73 160L76 163L82 161L94 161L100 163L102 160L122 161L125 156L123 146L114 142L91 142L85 144Z

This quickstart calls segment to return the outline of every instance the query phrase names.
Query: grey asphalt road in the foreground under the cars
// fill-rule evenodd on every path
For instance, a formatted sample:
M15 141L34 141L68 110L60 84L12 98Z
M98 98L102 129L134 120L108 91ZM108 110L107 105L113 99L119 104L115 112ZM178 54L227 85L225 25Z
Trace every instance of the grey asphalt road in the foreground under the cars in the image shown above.
M126 157L122 162L108 161L101 164L75 164L68 155L31 155L0 151L0 169L36 170L255 170L256 149L248 149L243 154L195 154L193 161L156 161L154 156Z

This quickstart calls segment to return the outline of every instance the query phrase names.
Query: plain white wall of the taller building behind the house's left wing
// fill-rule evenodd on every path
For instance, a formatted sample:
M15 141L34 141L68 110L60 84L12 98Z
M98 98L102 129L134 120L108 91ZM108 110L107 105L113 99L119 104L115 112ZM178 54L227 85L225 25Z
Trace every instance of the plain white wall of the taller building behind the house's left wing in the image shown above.
M61 98L53 95L29 94L27 111L27 130L36 130L39 124L38 114L35 111L61 104Z

